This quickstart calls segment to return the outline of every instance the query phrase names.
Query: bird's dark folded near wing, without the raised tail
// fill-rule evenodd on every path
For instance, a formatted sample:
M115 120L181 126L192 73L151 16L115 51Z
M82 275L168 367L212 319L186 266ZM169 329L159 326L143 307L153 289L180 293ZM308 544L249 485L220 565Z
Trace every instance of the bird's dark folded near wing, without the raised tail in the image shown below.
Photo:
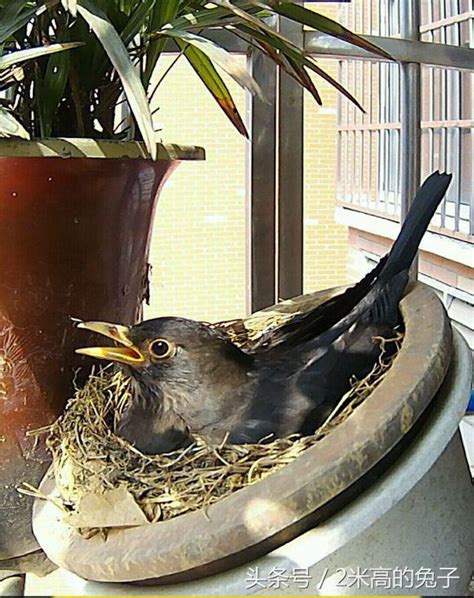
M312 434L349 390L351 377L363 378L372 368L380 350L374 337L389 336L397 323L407 278L403 272L377 281L349 314L317 337L260 354L256 400L241 437L262 437L267 429L278 436Z

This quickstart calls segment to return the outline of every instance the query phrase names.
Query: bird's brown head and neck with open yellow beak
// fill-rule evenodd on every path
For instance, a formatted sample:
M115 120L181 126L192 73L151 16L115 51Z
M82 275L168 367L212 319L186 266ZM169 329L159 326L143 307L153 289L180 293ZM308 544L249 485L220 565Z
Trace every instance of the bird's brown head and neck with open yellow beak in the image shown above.
M156 318L135 326L80 322L118 343L77 349L82 355L119 363L136 381L138 400L150 410L161 400L178 413L218 407L224 388L246 377L251 358L211 326L185 318ZM212 409L211 409L212 410Z

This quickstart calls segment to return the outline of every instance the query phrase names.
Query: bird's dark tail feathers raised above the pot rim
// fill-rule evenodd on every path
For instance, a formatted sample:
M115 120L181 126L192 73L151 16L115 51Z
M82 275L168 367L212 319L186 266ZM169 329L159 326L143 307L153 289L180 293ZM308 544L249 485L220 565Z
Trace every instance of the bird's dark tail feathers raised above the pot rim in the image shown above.
M380 277L388 279L391 276L408 270L415 259L418 246L426 229L441 203L452 175L434 172L419 188L408 211L400 233L390 250Z

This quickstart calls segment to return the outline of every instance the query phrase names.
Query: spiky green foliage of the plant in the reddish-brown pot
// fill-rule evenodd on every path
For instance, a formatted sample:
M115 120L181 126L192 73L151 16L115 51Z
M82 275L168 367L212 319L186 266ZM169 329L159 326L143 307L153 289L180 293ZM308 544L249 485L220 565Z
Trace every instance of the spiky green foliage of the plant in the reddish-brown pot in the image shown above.
M268 21L269 16L275 18ZM286 0L0 0L0 89L13 91L15 106L14 112L8 104L2 107L0 134L122 138L115 111L125 97L136 125L128 134L143 139L154 156L146 94L154 95L159 82L150 86L152 74L165 47L174 44L236 129L247 135L220 71L252 93L260 94L260 88L240 60L208 39L206 32L215 27L262 51L317 102L311 71L360 107L271 25L277 17L388 58L335 21ZM47 60L35 60L46 55Z

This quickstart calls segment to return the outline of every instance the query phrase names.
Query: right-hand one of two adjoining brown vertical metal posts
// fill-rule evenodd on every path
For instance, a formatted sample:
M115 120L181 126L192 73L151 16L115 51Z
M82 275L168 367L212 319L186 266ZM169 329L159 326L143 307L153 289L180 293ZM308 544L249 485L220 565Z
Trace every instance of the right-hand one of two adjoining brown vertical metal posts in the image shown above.
M302 45L301 25L281 19L280 32ZM281 69L278 87L278 298L289 299L303 293L303 88Z

